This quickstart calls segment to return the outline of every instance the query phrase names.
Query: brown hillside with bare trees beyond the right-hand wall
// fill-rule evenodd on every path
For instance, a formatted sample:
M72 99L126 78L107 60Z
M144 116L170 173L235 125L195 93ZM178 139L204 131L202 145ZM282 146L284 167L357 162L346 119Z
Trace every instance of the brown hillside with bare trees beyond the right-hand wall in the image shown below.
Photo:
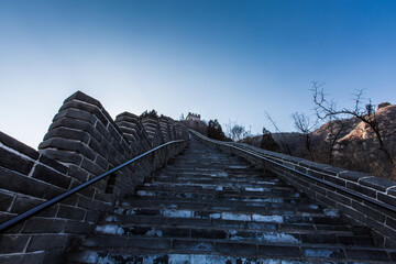
M396 105L381 103L375 112L385 147L396 158ZM341 130L340 130L341 129ZM334 134L337 132L337 139ZM311 133L310 153L299 133L273 133L279 152L345 169L396 179L396 169L380 148L372 129L358 118L328 122ZM241 142L260 147L261 135ZM334 140L336 139L336 140ZM334 142L333 142L334 141ZM333 143L333 147L331 147Z

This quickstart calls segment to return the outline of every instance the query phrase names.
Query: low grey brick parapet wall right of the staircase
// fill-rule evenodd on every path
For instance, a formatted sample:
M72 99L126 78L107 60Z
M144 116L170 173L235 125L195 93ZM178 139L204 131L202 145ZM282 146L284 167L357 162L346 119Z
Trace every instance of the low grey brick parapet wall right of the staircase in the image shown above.
M208 145L275 173L320 205L338 209L348 220L366 224L378 245L396 248L396 182L191 132Z

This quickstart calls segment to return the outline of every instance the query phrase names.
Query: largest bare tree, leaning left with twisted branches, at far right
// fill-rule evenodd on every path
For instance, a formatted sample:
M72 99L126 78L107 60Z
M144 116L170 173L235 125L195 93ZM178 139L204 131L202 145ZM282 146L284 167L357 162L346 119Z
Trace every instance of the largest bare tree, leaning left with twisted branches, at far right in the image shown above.
M354 107L338 109L333 101L327 99L327 95L323 91L322 84L316 81L312 82L312 92L314 92L314 102L315 109L320 119L327 119L328 117L353 117L361 120L365 123L375 134L375 138L378 141L380 150L385 154L387 160L395 165L395 161L392 157L391 152L384 144L382 130L378 119L376 117L375 106L372 103L371 99L363 106L363 90L358 90L354 95Z

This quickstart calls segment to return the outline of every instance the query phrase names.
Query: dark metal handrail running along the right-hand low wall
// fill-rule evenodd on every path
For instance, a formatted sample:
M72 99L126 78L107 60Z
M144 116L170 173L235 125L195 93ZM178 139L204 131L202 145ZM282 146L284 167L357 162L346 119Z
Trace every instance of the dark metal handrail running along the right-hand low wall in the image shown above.
M228 147L232 147L232 148L242 151L242 152L248 153L248 154L250 154L250 155L252 155L252 156L262 158L262 160L264 160L265 162L272 163L272 164L277 165L277 166L279 166L279 167L282 167L282 168L285 168L285 169L288 169L288 170L290 170L290 172L293 172L293 173L299 174L299 175L301 175L301 176L304 176L304 177L314 179L315 182L318 182L318 183L321 183L321 184L323 184L323 185L330 186L330 187L332 187L332 188L334 188L334 189L341 190L341 191L343 191L343 193L345 193L345 194L349 194L349 195L351 195L351 196L358 197L358 198L360 198L360 199L363 199L363 200L365 200L365 201L369 201L369 202L371 202L371 204L374 204L374 205L376 205L376 206L380 206L380 207L385 208L385 209L387 209L387 210L391 210L391 211L393 211L393 212L396 212L396 207L394 207L394 206L391 206L391 205L388 205L388 204L386 204L386 202L383 202L383 201L373 199L373 198L371 198L371 197L369 197L369 196L365 196L365 195L362 195L362 194L360 194L360 193L356 193L356 191L353 191L353 190L343 188L343 187L341 187L341 186L339 186L339 185L336 185L336 184L333 184L333 183L327 182L327 180L324 180L324 179L320 179L320 178L314 177L314 176L311 176L311 175L305 174L305 173L299 172L299 170L297 170L297 169L295 169L295 168L288 167L288 166L286 166L286 165L284 165L284 164L282 164L282 163L278 163L278 162L275 162L275 161L273 161L273 160L271 160L271 158L267 158L266 156L264 156L265 154L263 154L263 153L260 153L260 152L256 152L256 151L253 151L253 150L249 150L248 147L235 146L235 144L238 144L238 143L233 143L233 144L232 144L232 143L229 143L229 142L221 142L221 141L212 140L212 139L209 139L209 138L205 139L206 136L204 136L202 134L199 134L197 131L193 131L193 130L190 130L190 131L191 131L195 135L197 135L197 136L199 136L199 138L201 138L201 139L204 139L204 140L213 142L215 144L224 145L224 146L228 146Z

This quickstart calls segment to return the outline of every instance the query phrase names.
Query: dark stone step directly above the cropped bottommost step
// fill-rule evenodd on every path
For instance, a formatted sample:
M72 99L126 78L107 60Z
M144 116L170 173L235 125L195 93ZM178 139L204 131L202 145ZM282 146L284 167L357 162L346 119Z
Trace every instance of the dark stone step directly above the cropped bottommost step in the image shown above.
M349 263L362 263L362 261L364 263L393 263L395 261L394 251L370 246L256 244L239 241L125 238L121 235L112 238L102 235L88 239L82 250L86 250L85 252L99 251L105 254L124 254L129 257L155 252L156 254L205 254L299 261L296 263L301 263L301 261L302 263L332 263L332 261L340 262L344 260L348 260ZM69 261L90 263L87 261L89 257L85 258L81 255L74 255L70 258ZM107 260L109 261L109 258Z

